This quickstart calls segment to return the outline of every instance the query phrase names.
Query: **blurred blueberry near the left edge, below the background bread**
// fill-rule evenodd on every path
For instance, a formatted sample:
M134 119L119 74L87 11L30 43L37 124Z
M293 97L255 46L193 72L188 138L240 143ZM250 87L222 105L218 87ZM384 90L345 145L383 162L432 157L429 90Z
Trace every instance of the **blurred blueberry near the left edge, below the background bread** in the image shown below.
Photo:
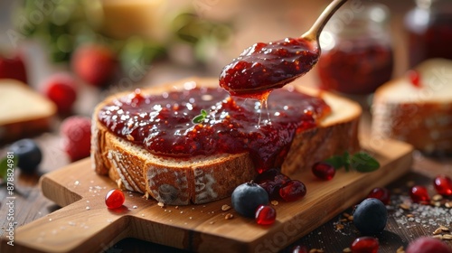
M9 151L17 157L17 167L24 173L33 173L41 164L42 153L39 146L32 139L22 139L14 142Z

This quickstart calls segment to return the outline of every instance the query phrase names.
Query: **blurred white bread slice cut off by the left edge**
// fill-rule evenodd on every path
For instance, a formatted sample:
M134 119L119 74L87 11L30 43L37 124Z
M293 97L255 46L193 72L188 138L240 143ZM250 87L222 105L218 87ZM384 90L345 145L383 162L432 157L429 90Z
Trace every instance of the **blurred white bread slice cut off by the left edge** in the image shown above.
M55 104L18 80L0 80L0 143L49 130Z

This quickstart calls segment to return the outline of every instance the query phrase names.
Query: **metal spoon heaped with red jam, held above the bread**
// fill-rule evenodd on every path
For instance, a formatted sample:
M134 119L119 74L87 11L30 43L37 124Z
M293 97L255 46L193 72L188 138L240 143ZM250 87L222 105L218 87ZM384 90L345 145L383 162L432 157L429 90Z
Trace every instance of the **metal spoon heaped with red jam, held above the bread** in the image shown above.
M312 27L298 38L258 42L250 46L221 70L221 88L232 96L262 100L272 89L281 88L305 75L320 57L320 33L346 1L331 2Z

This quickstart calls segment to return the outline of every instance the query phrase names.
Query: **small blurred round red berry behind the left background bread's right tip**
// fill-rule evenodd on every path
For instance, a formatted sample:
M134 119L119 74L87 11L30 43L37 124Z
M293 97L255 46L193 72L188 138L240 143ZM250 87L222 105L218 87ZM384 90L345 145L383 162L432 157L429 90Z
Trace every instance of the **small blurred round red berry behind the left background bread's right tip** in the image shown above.
M44 94L61 113L70 113L77 99L76 82L70 74L58 73L44 81Z

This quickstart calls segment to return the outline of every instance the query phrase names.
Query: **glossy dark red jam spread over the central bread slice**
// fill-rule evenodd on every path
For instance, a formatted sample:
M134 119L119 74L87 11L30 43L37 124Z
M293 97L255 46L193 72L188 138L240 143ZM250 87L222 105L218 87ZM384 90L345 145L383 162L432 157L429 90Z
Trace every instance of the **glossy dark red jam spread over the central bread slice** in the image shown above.
M208 116L194 124L193 117L202 109ZM152 154L184 158L250 152L262 172L279 167L297 131L316 126L317 119L330 111L322 99L287 89L272 92L267 110L260 109L259 101L234 100L220 88L162 95L142 95L137 89L100 109L98 117L112 133ZM260 113L271 123L258 126Z

